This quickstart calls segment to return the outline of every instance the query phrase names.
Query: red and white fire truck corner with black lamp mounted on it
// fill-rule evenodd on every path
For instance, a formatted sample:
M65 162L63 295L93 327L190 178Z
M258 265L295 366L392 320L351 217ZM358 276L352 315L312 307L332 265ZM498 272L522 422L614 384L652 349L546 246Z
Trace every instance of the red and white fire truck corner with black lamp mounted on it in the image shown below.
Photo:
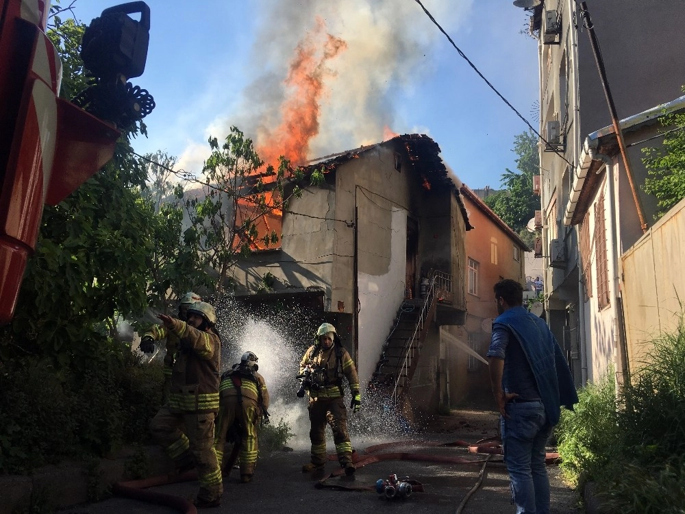
M43 204L58 204L95 174L120 130L154 107L126 82L145 69L144 2L107 9L86 29L81 56L92 86L74 101L58 97L62 62L45 34L49 9L49 0L0 0L0 324L14 314Z

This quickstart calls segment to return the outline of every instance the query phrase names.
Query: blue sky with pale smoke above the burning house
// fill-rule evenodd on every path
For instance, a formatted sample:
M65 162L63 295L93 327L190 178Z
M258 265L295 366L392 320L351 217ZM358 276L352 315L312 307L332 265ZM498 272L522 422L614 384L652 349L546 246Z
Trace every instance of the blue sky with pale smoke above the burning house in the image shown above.
M112 0L77 0L84 23ZM121 3L121 2L119 2ZM62 5L66 0L62 1ZM145 73L131 79L157 104L138 153L167 151L201 171L210 135L236 125L256 141L279 126L284 80L299 42L325 35L344 48L323 63L319 130L307 156L378 143L384 127L431 136L471 188L498 188L515 169L519 117L476 75L414 0L147 0ZM510 0L423 0L493 85L534 126L536 41L521 34L527 12Z

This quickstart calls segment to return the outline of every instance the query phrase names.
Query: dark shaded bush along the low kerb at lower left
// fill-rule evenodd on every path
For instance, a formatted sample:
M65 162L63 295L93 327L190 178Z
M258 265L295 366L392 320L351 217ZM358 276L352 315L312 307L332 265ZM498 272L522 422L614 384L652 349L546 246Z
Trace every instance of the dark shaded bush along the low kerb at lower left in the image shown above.
M142 365L130 352L119 366L93 360L79 374L30 358L0 365L0 473L106 456L149 439L162 382L161 366Z

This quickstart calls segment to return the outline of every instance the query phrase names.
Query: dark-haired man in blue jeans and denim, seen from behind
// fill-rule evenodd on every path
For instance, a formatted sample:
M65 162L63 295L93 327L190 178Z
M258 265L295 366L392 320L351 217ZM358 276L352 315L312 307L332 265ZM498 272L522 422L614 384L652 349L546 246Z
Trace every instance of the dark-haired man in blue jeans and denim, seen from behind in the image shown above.
M545 446L560 406L573 409L578 396L559 343L545 321L523 307L523 286L503 279L494 290L499 316L488 362L512 500L516 514L549 514Z

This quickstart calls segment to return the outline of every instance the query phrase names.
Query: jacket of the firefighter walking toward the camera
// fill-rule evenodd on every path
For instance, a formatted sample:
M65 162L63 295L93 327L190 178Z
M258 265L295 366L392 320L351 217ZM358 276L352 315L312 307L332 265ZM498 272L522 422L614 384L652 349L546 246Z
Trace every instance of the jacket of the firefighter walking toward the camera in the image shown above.
M354 361L340 343L334 343L330 350L323 350L319 343L310 346L300 361L300 374L307 365L310 365L314 371L320 371L314 373L316 387L310 387L310 397L342 397L343 376L347 378L352 395L359 393L359 376Z

